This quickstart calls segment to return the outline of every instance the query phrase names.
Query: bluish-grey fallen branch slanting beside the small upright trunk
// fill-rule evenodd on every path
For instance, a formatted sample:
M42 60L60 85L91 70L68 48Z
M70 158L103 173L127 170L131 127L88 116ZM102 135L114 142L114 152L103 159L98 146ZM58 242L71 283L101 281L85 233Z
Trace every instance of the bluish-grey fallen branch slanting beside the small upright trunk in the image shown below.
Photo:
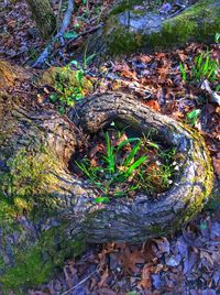
M50 54L53 51L54 44L57 40L59 40L62 45L64 45L63 35L64 35L65 31L67 30L67 28L72 21L73 13L74 13L74 0L68 0L68 8L64 14L64 19L63 19L61 29L58 30L55 37L53 37L52 42L46 46L46 48L43 51L43 53L38 56L36 62L33 64L33 67L41 67L44 63L46 63Z

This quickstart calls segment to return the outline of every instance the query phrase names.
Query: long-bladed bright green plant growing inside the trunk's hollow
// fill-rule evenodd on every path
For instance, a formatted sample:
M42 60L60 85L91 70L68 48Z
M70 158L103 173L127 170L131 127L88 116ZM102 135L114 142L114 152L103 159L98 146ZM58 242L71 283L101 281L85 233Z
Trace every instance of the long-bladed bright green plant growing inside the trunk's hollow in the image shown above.
M117 165L117 155L120 150L128 143L136 142L129 155ZM146 161L147 156L142 155L134 160L140 148L141 140L139 138L130 138L121 142L117 148L111 145L109 133L106 133L107 154L102 155L101 166L90 166L89 160L84 159L81 163L75 162L76 165L85 173L90 182L101 190L102 195L95 199L96 203L109 201L111 196L123 196L128 192L135 190L136 186L127 185L123 189L119 189L117 184L129 181L132 173Z

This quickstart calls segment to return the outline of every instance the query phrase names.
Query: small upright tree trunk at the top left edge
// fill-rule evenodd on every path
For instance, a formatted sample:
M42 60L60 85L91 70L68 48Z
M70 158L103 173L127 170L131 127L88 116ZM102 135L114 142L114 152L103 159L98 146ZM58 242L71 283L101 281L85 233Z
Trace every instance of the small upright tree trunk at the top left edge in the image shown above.
M43 36L48 39L56 30L56 17L50 0L26 0L36 26Z

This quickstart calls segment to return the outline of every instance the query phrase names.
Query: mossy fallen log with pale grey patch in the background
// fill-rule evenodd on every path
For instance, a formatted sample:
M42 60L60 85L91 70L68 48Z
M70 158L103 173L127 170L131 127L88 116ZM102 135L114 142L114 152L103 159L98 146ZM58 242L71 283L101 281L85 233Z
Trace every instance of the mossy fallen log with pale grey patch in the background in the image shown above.
M88 43L98 57L167 51L188 42L213 42L220 30L220 0L200 0L178 15L135 9L140 0L121 1Z

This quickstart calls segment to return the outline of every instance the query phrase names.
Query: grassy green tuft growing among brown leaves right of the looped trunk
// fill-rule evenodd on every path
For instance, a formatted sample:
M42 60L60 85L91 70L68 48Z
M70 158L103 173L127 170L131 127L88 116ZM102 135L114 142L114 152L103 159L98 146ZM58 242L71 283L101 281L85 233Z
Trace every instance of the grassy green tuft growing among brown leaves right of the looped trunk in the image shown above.
M210 58L210 53L207 51L197 55L194 59L194 66L187 75L187 70L183 63L179 64L179 69L183 80L186 83L194 81L202 84L205 79L213 83L217 80L217 75L219 70L219 63Z

